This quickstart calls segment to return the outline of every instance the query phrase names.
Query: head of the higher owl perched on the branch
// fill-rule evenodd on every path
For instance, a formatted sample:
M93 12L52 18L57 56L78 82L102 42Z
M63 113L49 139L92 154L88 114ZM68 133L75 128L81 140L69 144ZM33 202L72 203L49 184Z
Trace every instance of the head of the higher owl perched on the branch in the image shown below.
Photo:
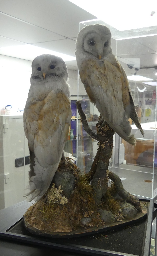
M80 30L76 41L76 59L81 53L84 57L102 59L111 51L111 32L108 27L95 24Z

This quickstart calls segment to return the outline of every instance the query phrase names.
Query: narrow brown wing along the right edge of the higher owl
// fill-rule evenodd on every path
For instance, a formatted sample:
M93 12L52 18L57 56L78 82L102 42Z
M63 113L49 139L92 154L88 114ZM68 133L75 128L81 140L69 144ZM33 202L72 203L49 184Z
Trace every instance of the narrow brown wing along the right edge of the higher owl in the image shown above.
M128 113L128 116L133 120L133 122L135 123L135 125L137 126L137 128L140 130L141 134L144 137L144 132L143 132L143 129L138 120L138 115L137 115L137 112L135 109L135 104L134 104L133 96L131 93L130 85L129 85L129 82L127 79L127 75L126 75L124 69L122 68L121 64L119 62L117 62L117 64L120 69L120 72L122 73L122 83L126 87L127 93L129 94L129 99L130 99L130 104L125 106L125 96L123 97L124 109Z

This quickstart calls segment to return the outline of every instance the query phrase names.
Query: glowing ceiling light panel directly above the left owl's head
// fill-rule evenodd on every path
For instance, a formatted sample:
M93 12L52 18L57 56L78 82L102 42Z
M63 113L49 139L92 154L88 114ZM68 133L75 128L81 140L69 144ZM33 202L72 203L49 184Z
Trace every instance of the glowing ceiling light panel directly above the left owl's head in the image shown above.
M0 54L16 57L19 59L30 60L30 61L33 61L35 57L41 54L56 55L58 57L61 57L64 61L76 60L76 58L73 56L63 54L57 51L51 51L51 50L41 48L35 45L30 45L30 44L1 47Z

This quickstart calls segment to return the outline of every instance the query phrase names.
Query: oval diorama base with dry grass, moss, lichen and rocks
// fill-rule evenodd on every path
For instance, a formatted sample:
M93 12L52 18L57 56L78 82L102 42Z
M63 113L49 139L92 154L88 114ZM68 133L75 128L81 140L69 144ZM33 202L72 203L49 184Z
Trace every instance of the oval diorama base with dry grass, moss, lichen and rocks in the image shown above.
M122 199L113 182L100 204L95 204L94 195L87 176L67 159L46 194L24 214L25 228L36 235L70 238L129 225L147 216L144 204L135 206Z

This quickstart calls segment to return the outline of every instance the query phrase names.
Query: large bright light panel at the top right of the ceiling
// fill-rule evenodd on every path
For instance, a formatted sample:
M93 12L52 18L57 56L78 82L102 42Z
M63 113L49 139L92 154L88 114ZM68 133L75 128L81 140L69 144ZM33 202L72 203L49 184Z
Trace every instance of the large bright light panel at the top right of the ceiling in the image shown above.
M120 31L157 26L156 0L132 0L130 4L126 0L69 1ZM152 11L156 12L153 16Z

